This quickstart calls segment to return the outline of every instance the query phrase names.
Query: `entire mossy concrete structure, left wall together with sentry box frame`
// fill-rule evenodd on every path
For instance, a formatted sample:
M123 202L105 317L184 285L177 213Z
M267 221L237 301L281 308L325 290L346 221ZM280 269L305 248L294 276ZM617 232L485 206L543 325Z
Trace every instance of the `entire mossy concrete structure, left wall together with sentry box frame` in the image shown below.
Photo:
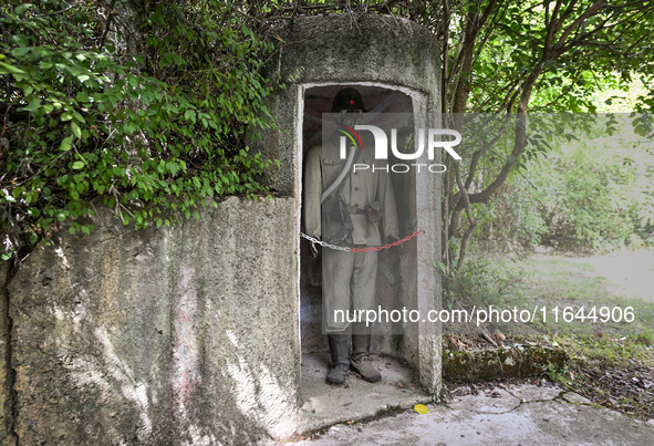
M0 333L2 422L21 444L251 444L298 427L303 94L374 84L408 94L416 113L438 112L440 58L429 30L393 17L297 18L272 32L268 74L288 86L268 107L281 131L251 146L281 162L270 184L289 198L229 198L199 220L144 231L97 206L97 231L39 246L10 280L0 321L13 323ZM439 308L439 274L423 261L440 251L439 187L438 176L413 186L424 235L406 289L421 311ZM439 326L421 333L398 344L419 357L433 395Z

